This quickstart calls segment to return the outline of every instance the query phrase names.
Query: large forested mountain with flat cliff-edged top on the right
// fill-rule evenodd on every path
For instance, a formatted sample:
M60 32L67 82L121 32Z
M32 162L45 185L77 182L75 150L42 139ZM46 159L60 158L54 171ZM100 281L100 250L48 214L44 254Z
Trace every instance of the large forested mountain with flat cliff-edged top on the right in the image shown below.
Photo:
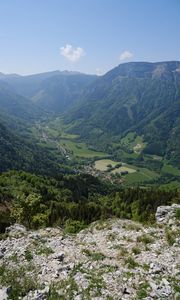
M86 88L65 115L73 133L98 143L136 131L145 152L179 161L180 62L121 64Z

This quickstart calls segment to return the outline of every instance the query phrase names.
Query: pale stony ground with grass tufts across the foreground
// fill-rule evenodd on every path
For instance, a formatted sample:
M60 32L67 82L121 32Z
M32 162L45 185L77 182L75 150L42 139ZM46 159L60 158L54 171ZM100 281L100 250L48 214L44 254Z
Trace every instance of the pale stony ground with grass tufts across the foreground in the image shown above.
M170 208L158 209L158 218ZM179 297L179 246L175 237L169 243L164 225L110 219L73 236L60 228L27 232L17 224L7 232L0 241L1 300Z

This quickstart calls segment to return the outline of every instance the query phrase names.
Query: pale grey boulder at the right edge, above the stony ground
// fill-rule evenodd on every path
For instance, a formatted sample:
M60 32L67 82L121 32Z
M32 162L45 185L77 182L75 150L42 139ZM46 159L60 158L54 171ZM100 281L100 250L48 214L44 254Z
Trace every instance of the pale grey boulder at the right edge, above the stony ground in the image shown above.
M173 204L171 206L159 206L156 211L156 222L158 224L173 225L175 220L175 214L177 209L180 209L180 205Z

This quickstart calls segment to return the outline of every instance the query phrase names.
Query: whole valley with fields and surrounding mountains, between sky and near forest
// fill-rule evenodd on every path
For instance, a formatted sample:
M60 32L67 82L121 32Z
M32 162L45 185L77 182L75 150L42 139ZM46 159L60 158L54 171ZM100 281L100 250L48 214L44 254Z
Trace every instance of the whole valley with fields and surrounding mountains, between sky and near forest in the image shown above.
M178 187L179 67L127 63L98 78L2 74L0 170Z

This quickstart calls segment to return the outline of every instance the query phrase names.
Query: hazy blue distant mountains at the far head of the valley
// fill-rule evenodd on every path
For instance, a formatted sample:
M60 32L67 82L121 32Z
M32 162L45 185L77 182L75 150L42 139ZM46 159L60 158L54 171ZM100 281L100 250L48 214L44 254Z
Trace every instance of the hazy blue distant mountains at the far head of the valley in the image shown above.
M82 91L97 76L53 71L18 77L3 77L16 93L32 100L43 110L62 113L79 100Z

